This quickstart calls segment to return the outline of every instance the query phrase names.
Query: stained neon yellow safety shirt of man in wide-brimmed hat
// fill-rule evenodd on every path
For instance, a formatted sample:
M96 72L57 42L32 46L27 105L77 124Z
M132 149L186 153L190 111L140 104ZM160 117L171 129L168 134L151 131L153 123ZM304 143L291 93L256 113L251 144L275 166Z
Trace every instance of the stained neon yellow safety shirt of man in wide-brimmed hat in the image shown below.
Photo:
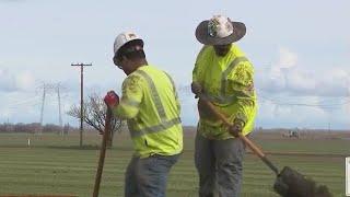
M203 88L209 100L232 123L235 119L244 121L244 135L254 129L257 112L254 68L237 46L232 44L224 57L217 56L212 46L203 46L196 60L192 81ZM198 109L201 135L213 139L233 138L206 106L198 105Z

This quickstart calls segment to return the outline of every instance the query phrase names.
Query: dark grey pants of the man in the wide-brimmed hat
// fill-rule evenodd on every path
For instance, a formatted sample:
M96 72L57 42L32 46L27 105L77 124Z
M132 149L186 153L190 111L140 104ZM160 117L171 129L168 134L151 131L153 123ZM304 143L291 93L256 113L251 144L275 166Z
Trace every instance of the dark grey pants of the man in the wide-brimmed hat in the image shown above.
M199 197L238 197L245 146L241 139L210 140L197 132L195 163Z

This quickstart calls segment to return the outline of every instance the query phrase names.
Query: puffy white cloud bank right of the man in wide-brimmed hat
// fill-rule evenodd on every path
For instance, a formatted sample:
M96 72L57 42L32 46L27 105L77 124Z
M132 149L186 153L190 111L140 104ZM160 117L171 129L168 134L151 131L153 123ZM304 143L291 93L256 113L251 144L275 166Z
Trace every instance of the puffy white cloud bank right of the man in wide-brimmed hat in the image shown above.
M349 95L350 73L346 68L331 66L325 70L302 67L298 55L281 48L279 61L256 76L259 90L280 94L303 96L346 96Z

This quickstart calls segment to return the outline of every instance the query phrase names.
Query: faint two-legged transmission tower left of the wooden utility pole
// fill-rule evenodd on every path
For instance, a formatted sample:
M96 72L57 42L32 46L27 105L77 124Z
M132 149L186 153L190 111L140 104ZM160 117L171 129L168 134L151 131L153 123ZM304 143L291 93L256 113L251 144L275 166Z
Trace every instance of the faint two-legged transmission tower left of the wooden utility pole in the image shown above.
M57 100L58 100L58 123L60 128L63 127L62 123L62 113L61 113L61 96L60 96L60 89L61 89L60 83L43 83L40 89L43 89L43 99L42 99L42 111L40 111L40 126L43 128L43 121L44 121L44 108L45 108L45 100L47 94L57 94ZM38 134L42 135L43 129L38 130ZM60 130L60 135L63 135L63 130Z

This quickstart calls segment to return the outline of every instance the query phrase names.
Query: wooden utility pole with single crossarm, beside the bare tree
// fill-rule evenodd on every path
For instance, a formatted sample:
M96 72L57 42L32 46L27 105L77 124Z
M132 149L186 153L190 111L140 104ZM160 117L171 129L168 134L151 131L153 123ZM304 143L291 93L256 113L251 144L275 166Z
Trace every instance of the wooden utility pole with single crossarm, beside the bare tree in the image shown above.
M80 67L80 147L83 146L83 105L84 105L84 67L91 67L92 63L71 63L72 67Z

